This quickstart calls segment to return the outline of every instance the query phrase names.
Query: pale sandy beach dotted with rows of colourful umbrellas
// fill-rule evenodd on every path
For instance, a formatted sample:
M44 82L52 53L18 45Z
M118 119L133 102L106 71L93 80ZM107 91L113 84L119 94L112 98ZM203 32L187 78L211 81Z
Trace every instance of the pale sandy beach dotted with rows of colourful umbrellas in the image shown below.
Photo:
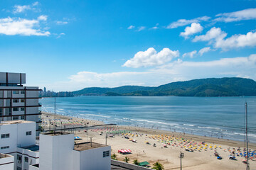
M53 130L54 115L43 113L41 118L43 129L48 130L50 128ZM245 157L240 156L245 147L244 142L164 130L104 125L103 122L97 120L85 120L64 115L56 115L56 120L57 129L89 127L70 130L70 132L75 133L75 136L82 137L82 140L76 140L76 142L87 142L92 137L93 142L105 144L107 133L107 145L112 147L112 154L116 154L119 161L123 161L124 157L129 157L129 163L138 159L139 162L149 162L149 166L152 166L154 162L161 162L164 169L180 169L179 154L183 152L183 169L245 169L246 166L242 163ZM110 137L110 133L114 134L114 137ZM129 137L129 139L124 138L124 136ZM136 142L132 142L132 140L136 140ZM204 143L202 144L202 142ZM153 147L154 144L156 147ZM164 147L165 145L166 147ZM119 149L131 149L132 154L119 154ZM188 152L185 149L193 149L193 152ZM256 144L250 143L250 150L255 149ZM217 159L214 155L215 152L218 152L223 159ZM236 161L229 159L231 154L235 155ZM250 169L256 169L255 158L253 156L253 159L250 159Z

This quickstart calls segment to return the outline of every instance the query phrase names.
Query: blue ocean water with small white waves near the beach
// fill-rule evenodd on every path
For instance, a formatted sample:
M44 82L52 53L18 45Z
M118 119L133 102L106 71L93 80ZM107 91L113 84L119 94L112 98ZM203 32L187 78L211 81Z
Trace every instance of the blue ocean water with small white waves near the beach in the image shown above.
M105 123L185 132L230 140L256 142L256 96L134 97L79 96L56 98L56 113ZM41 111L54 113L54 98L42 98Z

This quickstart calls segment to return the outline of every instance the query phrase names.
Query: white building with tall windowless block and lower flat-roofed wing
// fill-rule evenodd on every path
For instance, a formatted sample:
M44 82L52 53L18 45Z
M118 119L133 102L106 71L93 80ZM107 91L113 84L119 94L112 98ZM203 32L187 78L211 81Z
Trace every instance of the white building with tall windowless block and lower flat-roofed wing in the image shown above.
M76 144L74 135L63 132L40 135L39 165L36 170L110 170L111 147L94 142Z

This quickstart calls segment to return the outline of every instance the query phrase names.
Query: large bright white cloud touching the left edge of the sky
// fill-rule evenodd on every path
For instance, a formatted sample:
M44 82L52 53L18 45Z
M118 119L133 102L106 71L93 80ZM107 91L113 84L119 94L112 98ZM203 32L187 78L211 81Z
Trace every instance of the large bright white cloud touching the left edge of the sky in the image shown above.
M49 31L38 28L38 20L27 20L22 18L0 18L0 34L4 35L38 35L48 36Z

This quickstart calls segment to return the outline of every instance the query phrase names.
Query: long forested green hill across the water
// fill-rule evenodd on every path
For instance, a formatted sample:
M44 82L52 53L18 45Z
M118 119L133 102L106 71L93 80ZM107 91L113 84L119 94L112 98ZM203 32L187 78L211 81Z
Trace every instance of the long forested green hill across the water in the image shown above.
M244 78L193 79L157 87L91 87L73 91L73 94L105 96L256 96L256 82Z

